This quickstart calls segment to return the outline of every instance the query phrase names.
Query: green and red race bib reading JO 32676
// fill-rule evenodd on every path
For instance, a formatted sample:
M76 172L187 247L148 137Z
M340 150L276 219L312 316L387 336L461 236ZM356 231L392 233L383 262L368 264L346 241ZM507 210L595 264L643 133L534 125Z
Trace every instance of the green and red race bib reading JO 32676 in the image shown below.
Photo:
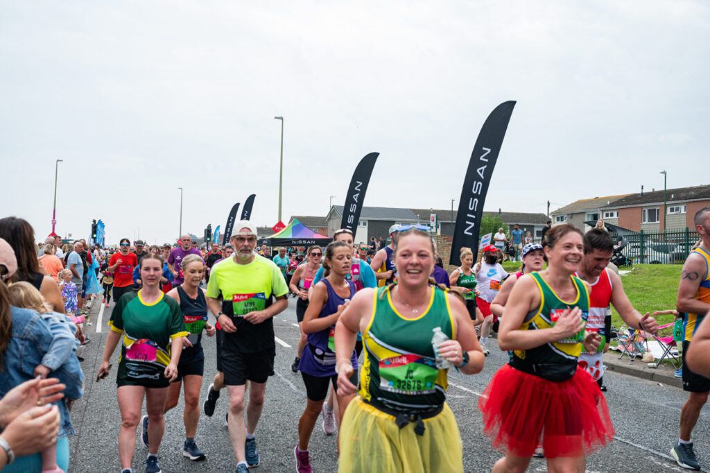
M401 354L380 361L380 388L391 393L434 393L439 370L433 358Z

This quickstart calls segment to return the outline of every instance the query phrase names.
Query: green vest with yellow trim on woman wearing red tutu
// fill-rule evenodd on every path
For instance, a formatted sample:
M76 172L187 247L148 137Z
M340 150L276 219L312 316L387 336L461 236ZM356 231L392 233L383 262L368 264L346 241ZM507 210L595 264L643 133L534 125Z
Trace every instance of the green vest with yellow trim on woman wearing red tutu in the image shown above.
M584 286L584 282L577 276L570 276L572 283L577 289L577 297L569 302L560 299L555 291L542 279L540 273L530 273L537 289L540 290L540 307L532 310L525 316L520 330L541 330L555 326L559 317L559 312L567 308L579 307L582 318L586 321L589 314L589 292ZM513 357L525 363L554 363L554 364L577 364L577 358L581 354L582 342L584 342L584 330L580 330L576 335L557 342L547 343L540 347L528 350L515 350Z

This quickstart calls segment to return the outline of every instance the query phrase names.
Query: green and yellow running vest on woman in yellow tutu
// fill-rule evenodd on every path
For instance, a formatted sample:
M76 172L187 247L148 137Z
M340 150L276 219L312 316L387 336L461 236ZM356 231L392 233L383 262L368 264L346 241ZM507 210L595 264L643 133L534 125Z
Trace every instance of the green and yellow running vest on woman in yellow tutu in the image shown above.
M360 396L372 406L410 413L442 406L447 370L436 367L432 336L436 327L450 339L456 336L447 292L432 286L429 306L415 319L397 312L386 287L376 290L373 307L362 335Z

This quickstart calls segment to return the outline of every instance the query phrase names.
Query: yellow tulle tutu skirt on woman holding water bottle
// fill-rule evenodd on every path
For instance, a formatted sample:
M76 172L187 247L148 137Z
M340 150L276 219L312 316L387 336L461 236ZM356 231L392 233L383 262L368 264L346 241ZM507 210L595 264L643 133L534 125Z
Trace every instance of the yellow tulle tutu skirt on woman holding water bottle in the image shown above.
M459 426L451 408L424 420L424 435L415 423L398 428L392 415L378 411L359 396L340 426L339 473L463 472Z

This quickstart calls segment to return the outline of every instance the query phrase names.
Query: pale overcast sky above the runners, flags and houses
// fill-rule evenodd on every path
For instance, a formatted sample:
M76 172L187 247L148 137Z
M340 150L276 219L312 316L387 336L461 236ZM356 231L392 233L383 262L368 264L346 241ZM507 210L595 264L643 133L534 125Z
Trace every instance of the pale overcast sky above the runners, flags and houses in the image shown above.
M481 125L516 100L486 210L709 184L704 1L0 1L0 215L109 243L342 205L458 199Z

